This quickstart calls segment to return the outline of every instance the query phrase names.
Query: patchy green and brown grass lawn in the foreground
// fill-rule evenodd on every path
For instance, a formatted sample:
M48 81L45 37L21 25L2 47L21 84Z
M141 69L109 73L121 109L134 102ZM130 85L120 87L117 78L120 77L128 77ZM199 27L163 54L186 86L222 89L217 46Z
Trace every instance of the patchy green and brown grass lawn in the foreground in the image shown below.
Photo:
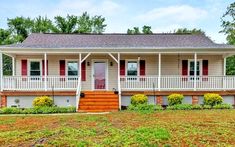
M0 116L0 146L235 146L235 110Z

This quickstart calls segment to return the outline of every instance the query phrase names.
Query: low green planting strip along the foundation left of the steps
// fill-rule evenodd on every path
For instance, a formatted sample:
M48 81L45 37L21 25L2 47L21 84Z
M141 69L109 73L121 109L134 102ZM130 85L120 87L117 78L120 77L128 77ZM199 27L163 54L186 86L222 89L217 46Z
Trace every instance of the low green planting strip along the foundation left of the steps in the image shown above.
M49 113L73 113L76 107L34 107L34 108L2 108L0 114L49 114Z

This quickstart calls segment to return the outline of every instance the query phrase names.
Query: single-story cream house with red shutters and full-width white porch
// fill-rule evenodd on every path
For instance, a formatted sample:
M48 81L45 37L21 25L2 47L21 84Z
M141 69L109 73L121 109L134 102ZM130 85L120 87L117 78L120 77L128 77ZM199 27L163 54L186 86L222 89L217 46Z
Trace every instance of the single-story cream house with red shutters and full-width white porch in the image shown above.
M31 34L0 50L2 107L31 107L36 96L49 95L58 106L111 111L137 93L167 105L174 92L184 103L202 103L207 92L235 103L235 76L225 72L235 47L205 35ZM12 57L10 76L3 75L3 54Z

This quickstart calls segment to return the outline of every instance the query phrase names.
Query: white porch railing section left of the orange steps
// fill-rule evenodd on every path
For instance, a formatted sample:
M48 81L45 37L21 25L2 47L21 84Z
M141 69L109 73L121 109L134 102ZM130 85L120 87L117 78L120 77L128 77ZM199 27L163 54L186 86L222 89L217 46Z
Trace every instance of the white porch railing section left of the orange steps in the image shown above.
M3 90L76 90L78 80L78 76L4 76Z

